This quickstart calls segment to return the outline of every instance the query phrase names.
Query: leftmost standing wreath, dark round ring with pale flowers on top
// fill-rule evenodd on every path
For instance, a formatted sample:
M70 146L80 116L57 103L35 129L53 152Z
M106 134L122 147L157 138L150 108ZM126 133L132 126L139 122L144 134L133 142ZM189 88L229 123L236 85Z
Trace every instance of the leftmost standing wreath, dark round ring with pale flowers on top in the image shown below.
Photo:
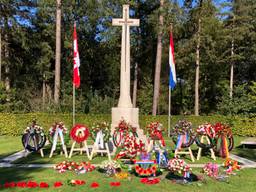
M43 128L37 125L36 121L33 121L31 126L25 129L21 140L26 150L30 152L36 152L44 147L46 136L44 134Z

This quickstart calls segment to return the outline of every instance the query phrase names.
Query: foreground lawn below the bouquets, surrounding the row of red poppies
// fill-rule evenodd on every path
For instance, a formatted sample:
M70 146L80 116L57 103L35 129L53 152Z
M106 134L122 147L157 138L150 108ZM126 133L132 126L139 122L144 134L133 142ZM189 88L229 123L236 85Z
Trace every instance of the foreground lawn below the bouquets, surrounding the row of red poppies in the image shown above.
M195 169L195 174L199 174L200 170ZM166 173L164 173L166 174ZM83 186L68 186L67 180L69 179L81 179L85 180L86 184ZM255 191L256 182L256 170L246 169L237 172L237 175L228 178L228 182L219 182L211 178L206 178L204 182L192 182L188 185L174 184L170 180L163 177L163 180L156 185L145 185L140 183L139 178L131 176L130 180L119 180L121 182L120 187L110 187L109 182L118 181L115 178L105 177L98 171L86 173L83 175L77 175L72 172L66 172L63 174L57 173L53 169L13 169L13 168L1 168L0 169L0 183L4 184L6 181L36 181L47 182L50 185L48 190L44 189L4 189L6 191L125 191L125 192L142 192L142 191L179 191L179 192L253 192ZM53 188L55 181L61 181L64 185L61 188ZM90 184L92 182L98 182L99 188L92 189Z

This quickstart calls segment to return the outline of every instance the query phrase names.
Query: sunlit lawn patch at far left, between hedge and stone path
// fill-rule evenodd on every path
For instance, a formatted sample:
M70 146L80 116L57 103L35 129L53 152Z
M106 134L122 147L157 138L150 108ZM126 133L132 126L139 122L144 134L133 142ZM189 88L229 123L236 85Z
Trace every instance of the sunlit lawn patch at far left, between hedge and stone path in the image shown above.
M21 137L0 136L0 158L6 157L22 149Z

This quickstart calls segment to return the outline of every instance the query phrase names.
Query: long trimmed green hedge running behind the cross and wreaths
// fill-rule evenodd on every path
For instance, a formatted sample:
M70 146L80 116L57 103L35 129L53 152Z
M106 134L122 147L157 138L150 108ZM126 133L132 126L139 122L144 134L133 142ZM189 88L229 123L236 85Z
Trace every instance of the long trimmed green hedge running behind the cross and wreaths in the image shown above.
M231 125L233 133L240 136L256 136L256 118L238 117L238 116L172 116L171 126L180 119L191 121L193 127L210 122L223 122ZM0 135L21 135L23 130L31 123L32 119L37 119L38 123L48 130L56 121L63 121L70 128L72 125L72 114L49 114L49 113L27 113L27 114L6 114L0 113ZM111 121L110 115L95 115L95 114L77 114L76 122L92 126L94 122ZM168 116L140 116L140 126L144 128L152 121L159 121L167 130Z

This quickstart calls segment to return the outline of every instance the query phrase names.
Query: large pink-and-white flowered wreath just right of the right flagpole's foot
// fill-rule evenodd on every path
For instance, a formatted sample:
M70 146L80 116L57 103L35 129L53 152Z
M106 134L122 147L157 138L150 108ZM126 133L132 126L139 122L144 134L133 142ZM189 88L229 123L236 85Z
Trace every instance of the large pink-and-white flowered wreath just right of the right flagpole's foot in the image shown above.
M170 137L172 137L172 140L174 143L177 144L178 137L180 135L187 135L188 140L186 143L181 144L181 148L187 148L190 147L194 143L194 133L192 130L192 123L186 120L179 120L178 123L175 125L173 130L170 133Z

